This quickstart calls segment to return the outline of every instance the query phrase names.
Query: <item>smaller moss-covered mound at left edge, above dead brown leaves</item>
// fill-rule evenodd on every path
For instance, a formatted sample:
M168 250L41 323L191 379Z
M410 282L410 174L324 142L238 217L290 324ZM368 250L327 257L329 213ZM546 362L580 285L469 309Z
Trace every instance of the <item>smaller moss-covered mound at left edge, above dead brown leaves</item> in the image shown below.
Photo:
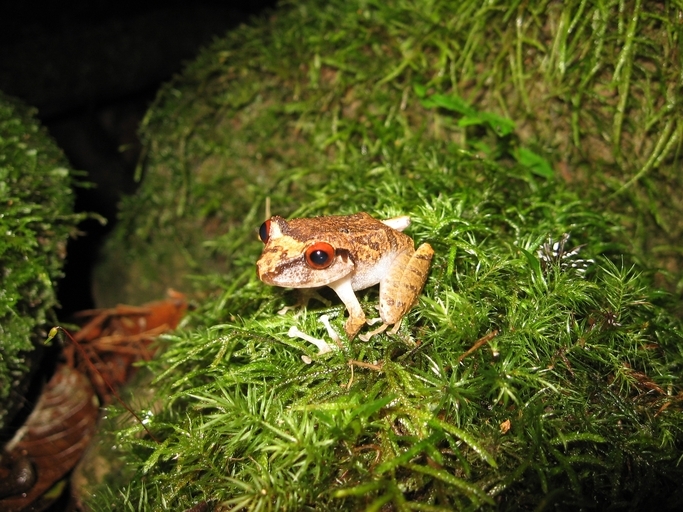
M73 214L69 165L35 111L0 93L0 429L45 340ZM47 328L47 329L46 329Z

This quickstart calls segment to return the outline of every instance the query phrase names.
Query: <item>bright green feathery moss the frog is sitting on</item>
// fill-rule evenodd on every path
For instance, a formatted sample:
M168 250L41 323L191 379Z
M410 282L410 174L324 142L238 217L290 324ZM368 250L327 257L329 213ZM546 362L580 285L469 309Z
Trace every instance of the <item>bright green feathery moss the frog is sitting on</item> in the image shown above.
M291 216L410 214L436 256L404 326L318 356L289 328L324 338L327 313L343 332L343 307L278 315L294 298L254 275L256 220L235 226L214 241L232 270L204 276L222 292L152 364L163 444L119 432L136 469L120 506L680 504L681 326L620 229L520 164L433 142L381 150L320 169ZM360 295L375 316L376 292Z

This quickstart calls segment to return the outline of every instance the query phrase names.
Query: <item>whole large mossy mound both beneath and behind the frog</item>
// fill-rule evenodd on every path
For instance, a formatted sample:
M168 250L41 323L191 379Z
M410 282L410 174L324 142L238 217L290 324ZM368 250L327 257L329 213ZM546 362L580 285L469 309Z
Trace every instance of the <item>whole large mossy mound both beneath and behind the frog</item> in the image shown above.
M680 506L681 325L634 229L675 232L655 84L675 103L680 61L645 62L677 41L666 9L297 2L200 55L150 110L103 267L116 299L184 279L199 305L152 365L163 443L119 432L129 481L94 506ZM277 314L295 298L255 276L266 199L412 216L436 256L397 335L324 356L287 335L325 338L322 313L342 332L344 310Z

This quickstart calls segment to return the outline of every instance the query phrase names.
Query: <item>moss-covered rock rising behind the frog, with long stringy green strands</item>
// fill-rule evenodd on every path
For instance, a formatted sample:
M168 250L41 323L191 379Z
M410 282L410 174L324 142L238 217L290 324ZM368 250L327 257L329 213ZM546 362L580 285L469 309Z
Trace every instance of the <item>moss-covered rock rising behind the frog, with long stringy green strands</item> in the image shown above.
M147 183L105 253L100 302L153 300L213 265L201 242L239 222L269 176L375 154L387 122L403 126L396 144L429 138L524 158L522 141L596 209L619 212L634 251L677 283L677 13L616 0L307 1L230 32L143 123Z

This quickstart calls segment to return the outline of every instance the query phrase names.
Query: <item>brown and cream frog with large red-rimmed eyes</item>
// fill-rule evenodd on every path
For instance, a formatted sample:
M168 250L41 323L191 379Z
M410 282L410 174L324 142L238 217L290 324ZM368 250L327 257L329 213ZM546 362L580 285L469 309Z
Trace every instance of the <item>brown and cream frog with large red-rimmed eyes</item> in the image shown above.
M344 303L344 330L353 340L362 327L381 322L369 335L393 326L422 292L434 250L428 243L415 249L403 233L409 216L378 220L365 212L285 220L275 215L259 229L265 244L256 263L261 281L297 289L331 288ZM356 292L379 284L379 318L367 320Z

